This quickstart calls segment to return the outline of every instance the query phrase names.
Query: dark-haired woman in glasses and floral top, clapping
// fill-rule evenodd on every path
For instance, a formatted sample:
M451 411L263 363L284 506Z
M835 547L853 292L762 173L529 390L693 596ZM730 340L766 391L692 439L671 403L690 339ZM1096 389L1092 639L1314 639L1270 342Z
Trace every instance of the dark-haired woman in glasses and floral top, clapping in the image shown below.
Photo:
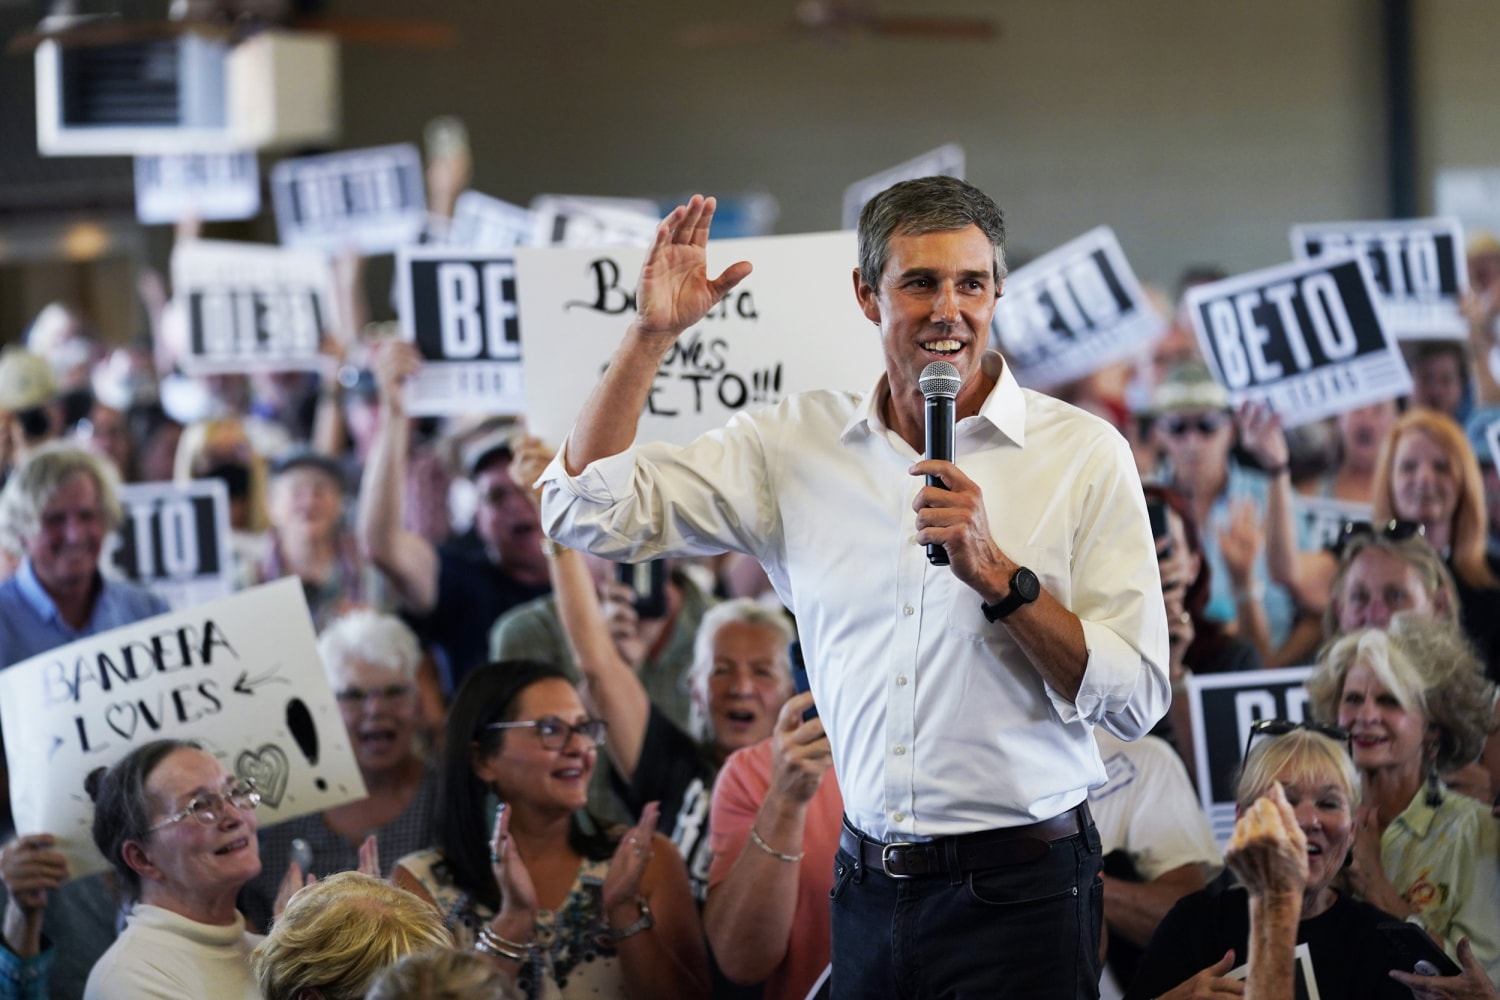
M396 885L526 997L706 996L698 907L656 804L624 831L586 814L603 739L556 667L472 670L448 712L435 847L402 858Z

